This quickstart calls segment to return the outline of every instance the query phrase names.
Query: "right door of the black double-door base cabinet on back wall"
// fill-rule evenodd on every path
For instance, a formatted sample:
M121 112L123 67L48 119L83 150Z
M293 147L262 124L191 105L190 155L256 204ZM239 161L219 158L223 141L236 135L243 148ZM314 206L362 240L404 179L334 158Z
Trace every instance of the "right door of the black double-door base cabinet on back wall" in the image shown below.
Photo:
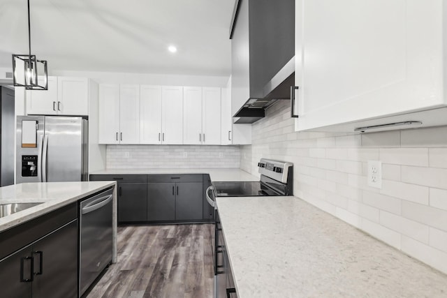
M202 182L175 184L175 220L201 220L203 218Z

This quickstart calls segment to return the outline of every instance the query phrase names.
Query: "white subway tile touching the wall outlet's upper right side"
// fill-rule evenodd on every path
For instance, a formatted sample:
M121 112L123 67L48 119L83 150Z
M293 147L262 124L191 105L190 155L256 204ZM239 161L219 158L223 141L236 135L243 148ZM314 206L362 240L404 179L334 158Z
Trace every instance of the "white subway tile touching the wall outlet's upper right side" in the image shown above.
M381 148L379 161L395 165L428 166L427 148Z

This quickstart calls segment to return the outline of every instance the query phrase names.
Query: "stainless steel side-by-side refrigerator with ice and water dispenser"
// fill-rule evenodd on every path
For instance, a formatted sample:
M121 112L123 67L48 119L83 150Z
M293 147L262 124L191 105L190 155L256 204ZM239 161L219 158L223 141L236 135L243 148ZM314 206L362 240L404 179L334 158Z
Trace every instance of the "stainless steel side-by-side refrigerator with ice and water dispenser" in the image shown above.
M88 122L17 116L16 183L87 181Z

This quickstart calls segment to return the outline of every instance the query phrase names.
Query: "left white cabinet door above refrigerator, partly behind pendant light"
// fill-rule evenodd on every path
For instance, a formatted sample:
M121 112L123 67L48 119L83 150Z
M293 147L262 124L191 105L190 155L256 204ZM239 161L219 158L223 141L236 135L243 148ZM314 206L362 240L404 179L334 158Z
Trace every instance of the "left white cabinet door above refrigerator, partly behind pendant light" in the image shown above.
M27 114L57 114L57 77L48 77L48 90L27 91Z

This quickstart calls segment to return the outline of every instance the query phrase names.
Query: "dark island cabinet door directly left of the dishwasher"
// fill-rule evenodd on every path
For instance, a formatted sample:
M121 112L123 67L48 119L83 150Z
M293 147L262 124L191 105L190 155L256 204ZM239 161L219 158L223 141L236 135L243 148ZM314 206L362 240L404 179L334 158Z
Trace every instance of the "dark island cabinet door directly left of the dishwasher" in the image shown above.
M32 246L33 298L78 297L78 220Z

